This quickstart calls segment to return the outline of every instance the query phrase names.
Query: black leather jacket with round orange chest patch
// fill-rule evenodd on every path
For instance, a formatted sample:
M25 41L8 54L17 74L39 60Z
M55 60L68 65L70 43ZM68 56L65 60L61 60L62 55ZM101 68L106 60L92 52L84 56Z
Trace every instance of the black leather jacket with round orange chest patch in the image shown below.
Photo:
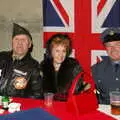
M12 52L0 53L0 94L17 97L40 97L41 77L39 63L28 53L21 60L12 59ZM17 90L14 83L17 77L27 80L25 89Z

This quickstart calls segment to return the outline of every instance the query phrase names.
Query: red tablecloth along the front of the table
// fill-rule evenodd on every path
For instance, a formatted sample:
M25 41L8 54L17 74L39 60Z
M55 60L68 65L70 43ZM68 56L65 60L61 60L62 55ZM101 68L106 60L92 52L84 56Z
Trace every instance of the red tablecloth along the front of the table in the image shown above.
M13 102L21 103L21 110L40 107L57 118L60 118L60 120L116 120L104 114L103 111L100 112L100 110L94 110L83 115L73 114L69 111L66 102L54 101L52 107L46 107L44 101L38 99L13 98Z

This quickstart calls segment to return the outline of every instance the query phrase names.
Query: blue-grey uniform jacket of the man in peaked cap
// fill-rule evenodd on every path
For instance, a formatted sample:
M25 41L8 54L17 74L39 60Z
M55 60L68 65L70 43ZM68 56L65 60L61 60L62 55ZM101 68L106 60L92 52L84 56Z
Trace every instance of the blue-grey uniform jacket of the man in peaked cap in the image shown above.
M114 65L109 57L92 66L92 75L97 87L100 104L109 104L110 91L120 90L120 68L115 72Z

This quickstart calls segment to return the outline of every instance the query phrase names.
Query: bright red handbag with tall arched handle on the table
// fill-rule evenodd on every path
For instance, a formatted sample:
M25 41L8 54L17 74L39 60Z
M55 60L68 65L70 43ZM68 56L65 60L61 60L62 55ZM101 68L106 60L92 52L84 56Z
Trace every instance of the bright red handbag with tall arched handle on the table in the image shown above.
M94 93L94 89L91 87L87 91L81 91L79 94L74 94L76 85L79 79L83 77L83 80L88 82L91 81L90 84L93 84L92 77L84 72L80 72L73 80L71 88L69 89L68 94L68 110L72 113L80 114L88 113L94 111L98 108L98 101L96 95Z

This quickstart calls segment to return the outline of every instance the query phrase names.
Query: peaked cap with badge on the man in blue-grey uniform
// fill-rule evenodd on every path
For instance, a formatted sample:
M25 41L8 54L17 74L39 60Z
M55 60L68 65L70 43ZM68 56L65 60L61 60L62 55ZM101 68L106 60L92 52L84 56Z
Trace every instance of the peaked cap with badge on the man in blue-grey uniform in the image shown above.
M120 41L120 28L108 28L101 34L102 43Z

